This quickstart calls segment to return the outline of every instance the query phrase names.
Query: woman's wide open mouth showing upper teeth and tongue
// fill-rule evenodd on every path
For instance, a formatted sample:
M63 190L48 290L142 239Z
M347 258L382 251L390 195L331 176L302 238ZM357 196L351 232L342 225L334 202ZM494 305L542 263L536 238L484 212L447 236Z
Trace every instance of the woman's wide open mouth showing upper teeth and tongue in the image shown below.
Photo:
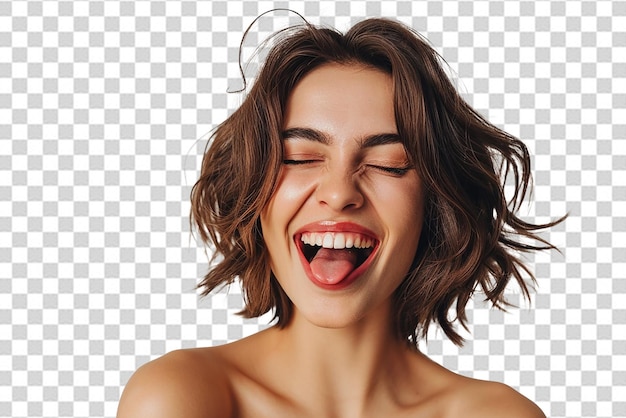
M307 274L332 286L355 279L378 246L376 239L354 232L304 232L296 242Z

